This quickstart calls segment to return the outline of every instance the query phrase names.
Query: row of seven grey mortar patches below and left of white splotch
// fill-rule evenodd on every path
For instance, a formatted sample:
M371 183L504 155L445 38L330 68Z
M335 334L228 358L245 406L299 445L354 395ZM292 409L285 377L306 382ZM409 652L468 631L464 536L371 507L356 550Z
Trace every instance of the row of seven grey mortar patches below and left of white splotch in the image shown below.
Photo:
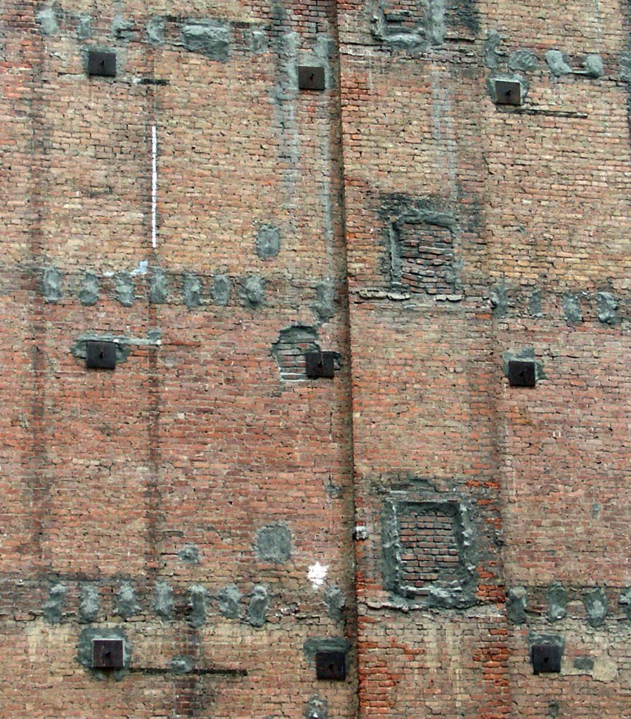
M107 617L101 610L101 594L94 583L84 584L78 610L75 613L65 611L68 587L63 583L50 587L48 599L42 609L45 620L58 624L66 619L75 618L81 623L92 623ZM245 601L244 601L245 599ZM228 619L239 619L255 627L261 627L268 618L270 595L263 585L255 585L247 596L237 585L227 585L212 595L203 585L191 585L188 592L177 596L168 582L158 582L151 598L151 609L161 620L186 620L191 627L200 627L217 603L219 613ZM137 592L131 582L122 582L114 596L114 615L125 621L136 617L145 618L145 609L140 605Z

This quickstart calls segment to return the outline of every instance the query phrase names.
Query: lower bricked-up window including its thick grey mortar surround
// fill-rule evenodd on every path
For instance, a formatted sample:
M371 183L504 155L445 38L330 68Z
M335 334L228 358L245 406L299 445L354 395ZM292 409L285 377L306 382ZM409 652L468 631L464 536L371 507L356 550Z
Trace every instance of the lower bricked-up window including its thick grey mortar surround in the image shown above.
M383 586L412 605L476 603L476 550L466 505L393 492L383 505Z

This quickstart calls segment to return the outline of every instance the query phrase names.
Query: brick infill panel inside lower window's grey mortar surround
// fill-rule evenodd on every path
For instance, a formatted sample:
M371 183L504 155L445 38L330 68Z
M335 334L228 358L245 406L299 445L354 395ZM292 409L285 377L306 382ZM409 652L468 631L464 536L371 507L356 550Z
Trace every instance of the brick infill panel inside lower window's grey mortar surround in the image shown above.
M402 579L419 593L436 580L458 579L460 557L453 515L453 509L412 508L399 516Z

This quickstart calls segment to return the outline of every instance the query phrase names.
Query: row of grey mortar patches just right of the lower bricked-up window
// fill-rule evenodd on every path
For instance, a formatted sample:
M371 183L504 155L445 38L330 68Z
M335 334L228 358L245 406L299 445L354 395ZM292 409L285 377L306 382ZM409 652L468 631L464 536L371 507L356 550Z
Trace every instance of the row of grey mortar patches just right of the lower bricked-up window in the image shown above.
M548 621L554 623L566 618L568 607L572 610L573 604L576 610L582 605L585 620L592 627L602 626L607 616L613 614L609 609L609 600L613 597L608 596L601 587L566 590L561 582L553 582L545 590L545 596L539 596L542 592L540 587L510 587L507 595L509 620L515 624L524 624L531 618L545 615ZM631 587L619 592L617 603L631 619Z

